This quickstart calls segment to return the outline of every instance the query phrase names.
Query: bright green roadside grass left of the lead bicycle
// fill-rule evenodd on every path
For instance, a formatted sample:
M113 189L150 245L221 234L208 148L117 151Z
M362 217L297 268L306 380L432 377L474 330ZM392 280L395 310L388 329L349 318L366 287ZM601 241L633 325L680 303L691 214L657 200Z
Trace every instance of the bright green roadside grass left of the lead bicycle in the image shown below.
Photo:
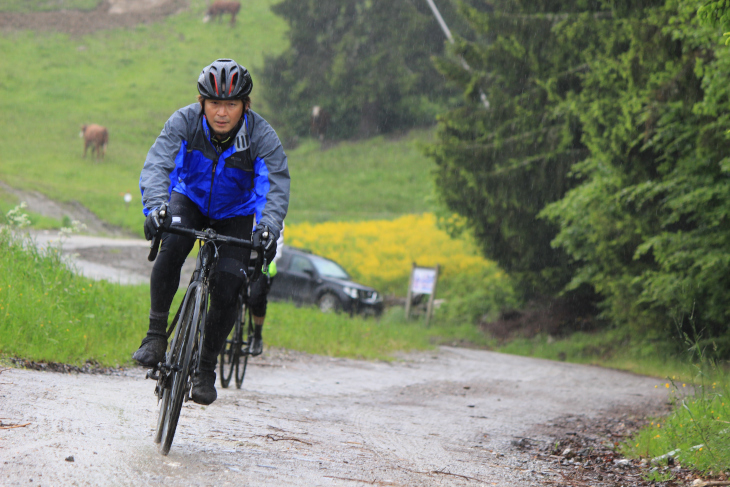
M144 335L149 287L92 281L55 247L0 229L0 353L27 360L118 365Z

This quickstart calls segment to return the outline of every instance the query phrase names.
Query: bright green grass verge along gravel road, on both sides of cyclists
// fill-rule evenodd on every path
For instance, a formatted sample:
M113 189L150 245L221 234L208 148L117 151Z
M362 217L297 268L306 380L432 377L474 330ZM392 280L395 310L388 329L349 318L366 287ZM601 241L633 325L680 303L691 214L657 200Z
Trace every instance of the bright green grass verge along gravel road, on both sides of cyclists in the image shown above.
M22 212L8 216L27 223ZM147 331L149 286L79 276L56 247L39 249L7 226L0 230L0 247L0 355L75 365L131 364ZM406 322L398 308L375 320L271 303L266 328L269 346L336 357L392 360L398 352L437 343L486 343L470 324L426 328L422 321Z

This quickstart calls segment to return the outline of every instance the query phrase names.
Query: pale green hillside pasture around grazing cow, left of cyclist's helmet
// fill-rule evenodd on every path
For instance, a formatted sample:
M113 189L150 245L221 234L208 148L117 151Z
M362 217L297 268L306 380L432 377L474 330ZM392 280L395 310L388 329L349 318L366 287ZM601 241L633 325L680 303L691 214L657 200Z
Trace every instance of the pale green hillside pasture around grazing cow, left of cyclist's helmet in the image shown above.
M233 57L256 74L264 55L286 46L273 0L247 7L235 30L203 24L205 3L155 25L101 31L81 39L47 32L0 35L0 179L52 198L76 199L102 219L140 231L142 213L122 195L139 194L139 172L152 142L177 108L195 101L203 66ZM222 47L226 46L226 47ZM33 59L33 62L27 62ZM254 85L254 106L265 112ZM82 159L83 123L109 128L107 159Z

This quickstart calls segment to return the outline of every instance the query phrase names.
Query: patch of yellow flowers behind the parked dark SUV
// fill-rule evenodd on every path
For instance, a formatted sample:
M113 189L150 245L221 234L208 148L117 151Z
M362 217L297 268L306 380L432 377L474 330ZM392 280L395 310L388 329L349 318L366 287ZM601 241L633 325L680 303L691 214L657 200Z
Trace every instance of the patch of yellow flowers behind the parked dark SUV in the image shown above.
M473 242L452 239L430 213L395 220L290 224L285 243L337 261L355 280L386 294L406 294L416 262L424 267L439 264L437 297L447 301L457 289L460 296L489 290L501 304L513 296L510 281L497 264L480 256Z

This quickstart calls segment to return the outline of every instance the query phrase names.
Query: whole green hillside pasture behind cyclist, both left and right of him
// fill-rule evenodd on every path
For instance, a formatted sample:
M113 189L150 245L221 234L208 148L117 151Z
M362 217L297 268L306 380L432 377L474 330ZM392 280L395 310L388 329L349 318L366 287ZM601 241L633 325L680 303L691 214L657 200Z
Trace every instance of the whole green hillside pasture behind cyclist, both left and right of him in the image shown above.
M139 194L146 153L172 112L194 102L203 66L228 56L245 64L254 79L253 108L269 116L257 74L264 56L287 43L286 24L269 10L273 3L248 2L233 30L203 24L205 2L193 0L189 11L160 24L80 39L3 33L3 64L23 70L0 71L0 180L60 201L78 200L103 220L141 235L141 204L135 197L133 208L140 211L126 211L122 196ZM105 161L81 158L83 123L108 127ZM290 221L391 218L431 209L433 163L418 148L429 137L430 131L416 131L328 150L304 141L287 150Z

